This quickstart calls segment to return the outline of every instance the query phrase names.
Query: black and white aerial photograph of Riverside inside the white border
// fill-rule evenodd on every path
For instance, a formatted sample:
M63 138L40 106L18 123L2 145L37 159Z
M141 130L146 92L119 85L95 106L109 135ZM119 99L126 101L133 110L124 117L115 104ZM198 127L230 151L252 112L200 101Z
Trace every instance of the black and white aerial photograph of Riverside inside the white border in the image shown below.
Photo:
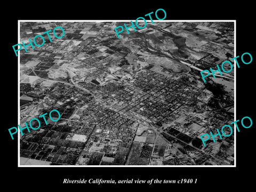
M124 23L19 22L20 42L45 39L19 51L20 126L60 113L19 133L20 165L234 166L234 134L200 137L235 121L234 62L200 73L234 58L234 21L154 20L118 38Z

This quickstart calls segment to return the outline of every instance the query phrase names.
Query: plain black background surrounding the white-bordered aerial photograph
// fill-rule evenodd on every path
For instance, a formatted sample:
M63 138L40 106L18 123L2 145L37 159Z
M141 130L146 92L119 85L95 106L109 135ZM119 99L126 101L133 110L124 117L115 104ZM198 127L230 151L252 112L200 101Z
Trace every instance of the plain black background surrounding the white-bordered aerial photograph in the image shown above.
M255 43L253 5L245 1L236 4L224 1L161 1L161 2L20 2L3 5L2 15L2 185L18 190L52 189L192 189L228 190L238 186L244 189L253 184L255 114L253 113L255 77ZM236 20L236 55L251 53L250 65L241 64L236 68L236 119L249 116L253 119L250 129L237 132L237 167L18 167L18 137L11 139L8 129L18 125L18 58L12 45L18 43L18 20L135 20L143 15L164 9L165 20ZM5 10L7 12L5 12ZM160 16L159 16L160 17ZM161 17L160 17L161 18ZM153 18L154 19L154 18ZM238 60L239 61L239 60ZM197 179L197 184L162 185L87 185L63 184L63 179ZM140 190L141 190L140 189Z

